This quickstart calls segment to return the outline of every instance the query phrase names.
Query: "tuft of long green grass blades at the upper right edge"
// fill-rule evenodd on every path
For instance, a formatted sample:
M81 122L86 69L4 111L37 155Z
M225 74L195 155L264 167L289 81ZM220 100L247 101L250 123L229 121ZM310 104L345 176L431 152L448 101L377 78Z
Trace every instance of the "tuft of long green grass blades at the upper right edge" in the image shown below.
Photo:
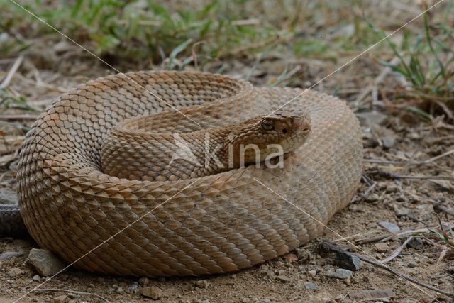
M425 13L420 31L412 32L404 28L400 43L387 39L387 44L394 56L399 58L399 63L394 65L384 60L380 60L380 63L390 67L409 83L404 92L397 92L394 97L417 98L438 104L441 102L454 108L454 28L448 20L452 3L453 1L448 1L445 14L438 21L430 20ZM384 31L374 29L381 38L385 37ZM414 106L409 109L427 116L427 113L418 111Z

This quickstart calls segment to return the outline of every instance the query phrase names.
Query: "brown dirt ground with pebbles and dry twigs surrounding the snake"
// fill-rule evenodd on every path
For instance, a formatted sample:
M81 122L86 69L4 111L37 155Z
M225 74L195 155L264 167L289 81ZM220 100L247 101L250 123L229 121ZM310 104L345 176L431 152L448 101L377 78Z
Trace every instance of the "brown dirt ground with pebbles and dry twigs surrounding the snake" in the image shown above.
M11 92L25 96L38 111L86 79L114 73L71 45L67 56L43 51L45 48L43 45L41 50L34 48L28 53L9 84ZM1 60L0 79L15 60ZM226 75L244 79L250 71L250 60L224 63ZM290 68L297 67L293 75L297 80L289 84L307 87L342 63L294 60ZM143 67L118 67L122 71L140 68ZM208 71L217 69L216 63L206 67ZM283 69L284 57L270 54L250 80L265 84ZM380 74L384 77L379 85L374 81ZM357 194L348 207L333 217L320 239L334 241L358 255L383 260L412 236L411 245L403 247L387 265L426 285L453 292L453 247L427 228L441 233L439 222L445 231L454 226L454 153L448 153L454 150L454 126L443 118L422 121L402 111L398 104L377 98L395 85L389 70L365 55L314 88L330 94L336 90L339 97L348 101L360 118L365 152L364 175ZM0 137L0 188L15 190L23 126L31 126L38 112L6 109L1 115L11 124L2 128ZM386 224L395 224L399 230L390 233L382 227ZM0 239L0 253L21 253L0 261L1 302L16 302L19 298L20 302L146 302L153 299L144 297L140 290L150 286L159 287L155 294L160 302L453 302L452 298L365 262L345 277L331 277L338 267L318 253L318 241L230 275L139 279L92 275L70 268L47 282L27 262L29 250L37 247L31 238ZM45 284L40 289L47 291L28 294L41 282Z

